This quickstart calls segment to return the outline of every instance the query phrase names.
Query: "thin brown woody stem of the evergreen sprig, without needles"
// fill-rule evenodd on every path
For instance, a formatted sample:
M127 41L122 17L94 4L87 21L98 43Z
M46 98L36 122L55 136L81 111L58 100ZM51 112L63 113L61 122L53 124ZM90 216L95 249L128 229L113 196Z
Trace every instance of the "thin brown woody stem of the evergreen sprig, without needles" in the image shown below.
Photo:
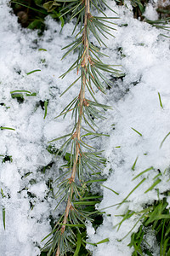
M77 173L77 162L78 162L78 156L80 154L80 134L81 134L81 126L82 126L82 108L83 108L83 103L85 100L85 87L86 87L86 67L88 67L88 61L89 61L89 55L88 55L88 16L90 14L90 5L89 5L89 0L84 1L85 4L85 15L84 15L84 31L83 31L83 44L84 44L84 52L82 54L83 56L83 64L84 66L82 67L82 84L81 84L81 90L79 94L79 117L77 121L77 131L74 133L74 135L77 137L77 144L76 144L76 158L73 162L73 167L72 167L72 172L71 172L71 178L70 178L70 183L75 181L76 173ZM61 226L61 236L65 232L65 224L67 223L67 218L69 215L69 212L71 210L71 199L73 195L73 188L71 187L71 192L68 197L67 205L65 208L65 216L63 219L63 225ZM57 252L55 256L59 256L60 253L60 248L58 245Z

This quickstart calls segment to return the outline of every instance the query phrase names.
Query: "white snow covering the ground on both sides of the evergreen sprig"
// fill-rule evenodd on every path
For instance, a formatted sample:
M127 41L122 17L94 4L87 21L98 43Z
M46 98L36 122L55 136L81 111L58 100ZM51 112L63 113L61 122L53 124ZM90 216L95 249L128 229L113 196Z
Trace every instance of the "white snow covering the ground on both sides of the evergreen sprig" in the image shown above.
M74 55L68 55L60 61L63 55L61 48L72 41L73 25L65 25L60 32L60 25L48 18L48 30L38 38L37 32L20 28L7 3L0 0L0 126L14 130L0 130L0 189L4 195L0 196L0 255L37 256L40 255L42 238L51 230L50 215L59 213L54 212L56 202L49 192L50 178L59 174L59 162L48 153L47 147L49 140L62 136L71 127L70 119L54 117L77 93L72 89L69 99L68 95L59 97L75 79L75 73L70 73L64 80L59 79L59 75L75 60ZM119 193L116 195L104 189L104 199L99 208L120 203L144 177L145 180L128 197L127 203L105 210L110 216L105 214L104 223L96 233L88 225L88 240L110 239L98 247L90 247L94 256L130 256L132 248L127 247L130 236L121 242L117 240L131 230L137 218L128 219L117 231L114 226L121 218L115 216L127 209L141 211L145 203L158 199L156 189L160 194L170 189L167 183L170 136L161 145L170 131L170 50L169 38L160 35L168 32L133 19L128 2L128 9L117 7L112 1L109 4L120 19L116 20L115 38L105 41L108 48L103 51L110 55L110 59L105 61L122 65L120 69L125 77L116 80L106 96L98 95L101 102L113 108L106 113L107 119L101 125L102 131L110 134L102 142L108 160L104 172L109 174L105 186ZM106 14L114 15L110 10L106 10ZM146 15L157 18L151 4ZM41 71L26 74L37 69ZM28 90L36 96L23 92L24 101L19 102L12 98L13 90ZM41 104L47 100L48 113L44 119L45 111ZM8 158L4 162L5 156ZM53 167L44 173L43 166L52 163ZM151 166L153 170L132 181L133 177ZM162 174L161 183L144 194L154 182L158 169ZM169 198L167 201L170 203ZM3 207L6 212L5 230ZM158 255L156 248L154 255Z

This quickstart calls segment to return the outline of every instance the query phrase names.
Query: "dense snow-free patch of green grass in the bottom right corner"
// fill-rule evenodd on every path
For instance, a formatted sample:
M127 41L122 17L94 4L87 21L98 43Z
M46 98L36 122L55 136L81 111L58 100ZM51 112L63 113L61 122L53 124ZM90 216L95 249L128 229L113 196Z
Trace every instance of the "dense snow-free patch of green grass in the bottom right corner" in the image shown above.
M160 246L161 256L168 256L170 253L170 214L167 209L167 201L164 198L161 201L156 201L153 206L146 208L142 224L136 233L131 236L129 247L133 247L133 256L138 255L154 255L153 245L147 241L147 236L152 231L152 236L155 236L157 245ZM153 238L152 238L153 240Z

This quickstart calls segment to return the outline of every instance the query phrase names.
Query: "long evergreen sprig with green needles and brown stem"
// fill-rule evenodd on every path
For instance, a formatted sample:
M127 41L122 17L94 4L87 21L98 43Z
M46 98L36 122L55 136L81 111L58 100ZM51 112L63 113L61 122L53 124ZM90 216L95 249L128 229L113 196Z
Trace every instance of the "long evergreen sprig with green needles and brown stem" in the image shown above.
M58 2L63 2L63 0ZM73 252L73 248L77 246L77 241L80 241L81 229L85 227L85 221L87 219L92 221L89 218L90 212L87 207L94 206L99 202L96 201L99 196L89 196L90 186L92 183L105 181L100 177L100 173L105 167L103 152L98 152L93 145L88 143L89 137L94 139L95 137L108 136L95 131L97 127L95 120L105 119L105 111L111 107L99 103L94 96L94 90L97 89L105 93L105 86L111 86L105 73L116 75L118 72L114 66L105 64L100 60L100 56L103 54L99 51L99 46L102 44L106 46L103 38L107 38L107 35L112 36L111 31L114 30L112 27L114 23L111 19L115 18L106 17L105 6L107 6L105 0L67 0L65 1L65 8L61 11L62 15L71 12L71 19L77 17L73 32L76 31L77 26L80 28L74 42L63 48L67 49L63 58L75 49L78 50L78 57L71 67L61 75L61 79L73 69L77 70L79 76L61 96L77 82L80 83L80 91L59 113L59 116L64 117L71 113L71 118L74 119L72 131L49 142L54 143L64 139L65 142L58 149L57 154L60 157L65 156L70 148L70 158L69 171L67 170L56 181L58 182L58 190L55 198L59 201L57 207L65 202L65 212L48 235L50 238L45 245L48 247L48 256L65 255L68 251ZM93 8L104 16L93 16L91 14ZM91 36L94 36L99 46L91 43L89 39ZM88 95L91 98L86 97L86 90L88 90Z

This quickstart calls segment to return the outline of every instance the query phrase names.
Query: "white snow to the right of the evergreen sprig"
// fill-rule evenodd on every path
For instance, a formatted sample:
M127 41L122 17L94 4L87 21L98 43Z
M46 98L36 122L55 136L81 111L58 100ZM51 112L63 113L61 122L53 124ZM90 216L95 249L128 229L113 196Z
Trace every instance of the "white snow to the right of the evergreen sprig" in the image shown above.
M103 128L110 134L110 137L105 139L102 145L109 161L109 168L105 168L105 173L111 173L104 184L119 195L104 188L104 199L99 205L99 209L105 209L105 220L96 230L95 235L88 232L88 237L90 242L101 241L105 238L109 238L110 241L106 244L99 244L98 247L88 246L90 250L93 250L94 256L132 255L132 248L127 247L130 235L122 241L118 241L118 239L126 236L139 218L127 219L121 225L120 230L117 230L116 224L122 220L117 215L127 212L128 209L140 212L144 209L145 204L151 204L154 200L158 200L156 189L159 189L160 199L162 198L161 192L169 189L169 183L167 183L169 173L163 174L169 167L168 137L160 148L170 127L168 118L170 114L169 38L160 37L160 31L139 20L133 20L130 15L123 16L121 8L115 10L122 17L119 24L127 24L126 27L117 29L114 44L112 43L113 51L118 48L122 49L122 60L118 61L126 73L123 81L118 81L117 86L127 88L128 91L127 93L122 91L121 95L119 90L119 95L116 97L114 96L116 90L113 87L105 100L108 105L112 106L113 111L108 113L108 119ZM111 48L111 41L109 44ZM106 51L108 53L110 49ZM161 95L163 108L160 106L158 92ZM115 124L114 130L111 129L113 124ZM139 131L142 136L139 136L132 128ZM138 160L133 171L132 166L136 158ZM154 170L145 172L133 180L140 172L151 166ZM156 189L144 193L154 183L154 177L159 173L158 169L162 174L161 183L156 186ZM143 178L145 178L144 182L129 195ZM111 207L121 203L127 195L129 195L127 202L123 203L121 207ZM138 230L139 225L140 222L133 229L134 232ZM150 239L151 246L154 241L154 239ZM154 255L158 255L158 248L153 247L155 247Z

